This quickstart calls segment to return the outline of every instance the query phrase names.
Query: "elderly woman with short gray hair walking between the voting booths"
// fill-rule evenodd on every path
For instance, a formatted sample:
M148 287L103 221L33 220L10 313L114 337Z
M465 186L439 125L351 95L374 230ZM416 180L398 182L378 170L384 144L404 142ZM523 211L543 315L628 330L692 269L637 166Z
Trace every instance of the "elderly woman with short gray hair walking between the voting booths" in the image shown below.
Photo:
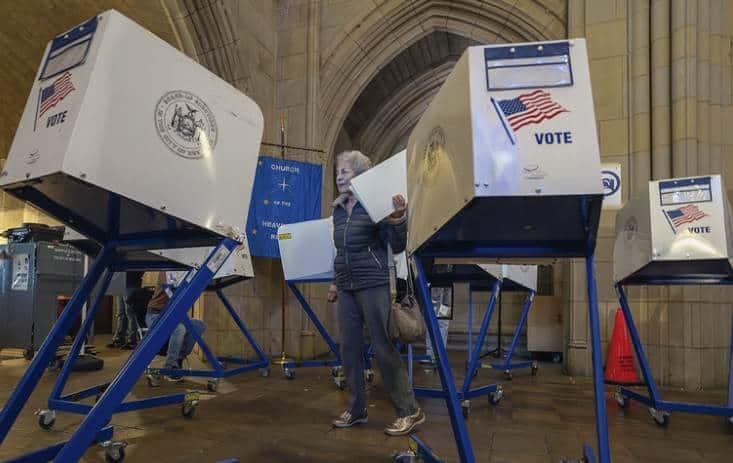
M333 210L336 282L329 289L328 299L338 300L341 357L351 400L349 408L333 425L348 428L367 422L363 339L366 324L384 387L397 413L395 422L384 432L401 436L425 421L387 326L391 307L387 245L395 253L405 249L407 203L401 195L393 197L395 211L374 223L349 189L351 179L369 167L369 158L359 151L346 151L336 157L336 186L340 193Z

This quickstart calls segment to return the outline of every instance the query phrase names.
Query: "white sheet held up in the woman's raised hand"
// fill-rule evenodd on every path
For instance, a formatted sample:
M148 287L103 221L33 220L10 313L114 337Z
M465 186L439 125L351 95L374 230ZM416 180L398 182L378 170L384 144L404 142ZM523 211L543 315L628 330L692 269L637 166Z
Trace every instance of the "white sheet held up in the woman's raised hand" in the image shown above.
M407 151L354 177L351 191L375 223L382 221L394 212L393 196L400 194L407 199Z

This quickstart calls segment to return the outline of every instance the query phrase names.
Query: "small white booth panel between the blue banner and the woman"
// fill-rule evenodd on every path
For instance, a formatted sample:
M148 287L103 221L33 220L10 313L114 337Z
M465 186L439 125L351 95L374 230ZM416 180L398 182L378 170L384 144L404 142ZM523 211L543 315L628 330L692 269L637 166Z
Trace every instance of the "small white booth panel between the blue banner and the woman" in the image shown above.
M277 243L286 281L314 281L334 276L333 219L281 225Z

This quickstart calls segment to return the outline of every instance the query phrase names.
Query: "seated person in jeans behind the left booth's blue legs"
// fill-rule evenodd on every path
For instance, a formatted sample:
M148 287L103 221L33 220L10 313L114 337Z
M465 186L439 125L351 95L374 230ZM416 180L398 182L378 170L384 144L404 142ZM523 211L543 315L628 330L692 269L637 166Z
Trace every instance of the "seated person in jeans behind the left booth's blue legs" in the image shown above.
M145 323L148 325L148 329L152 328L158 318L160 318L174 290L175 287L169 283L166 278L166 273L161 272L158 277L158 285L155 288L155 293L153 293L153 297L148 302L148 312L145 314ZM206 330L206 325L201 320L192 318L191 324L199 334L202 334ZM183 323L179 323L168 339L168 352L166 354L164 368L182 369L183 361L193 352L195 345L196 340L193 334L186 329ZM169 375L165 378L171 382L183 381L183 376L180 375Z

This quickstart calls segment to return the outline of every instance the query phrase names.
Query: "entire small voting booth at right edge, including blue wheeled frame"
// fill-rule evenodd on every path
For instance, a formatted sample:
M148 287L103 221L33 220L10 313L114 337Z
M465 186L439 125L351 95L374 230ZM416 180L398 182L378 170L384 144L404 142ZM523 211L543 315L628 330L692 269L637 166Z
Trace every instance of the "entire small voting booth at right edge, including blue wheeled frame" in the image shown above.
M624 289L630 285L733 284L733 222L721 176L649 182L648 190L629 201L616 217L613 258L616 291L649 393L644 396L619 388L619 405L625 407L630 400L647 405L660 426L669 423L672 411L723 416L733 424L733 356L726 405L662 400Z

